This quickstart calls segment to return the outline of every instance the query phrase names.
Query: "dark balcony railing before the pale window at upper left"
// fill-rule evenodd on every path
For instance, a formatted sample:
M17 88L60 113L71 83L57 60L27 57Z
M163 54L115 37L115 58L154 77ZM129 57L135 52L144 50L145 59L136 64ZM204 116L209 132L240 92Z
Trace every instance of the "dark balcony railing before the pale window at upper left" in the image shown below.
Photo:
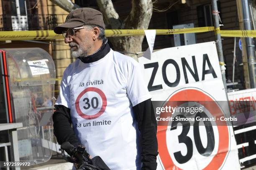
M53 30L57 15L0 15L0 31Z

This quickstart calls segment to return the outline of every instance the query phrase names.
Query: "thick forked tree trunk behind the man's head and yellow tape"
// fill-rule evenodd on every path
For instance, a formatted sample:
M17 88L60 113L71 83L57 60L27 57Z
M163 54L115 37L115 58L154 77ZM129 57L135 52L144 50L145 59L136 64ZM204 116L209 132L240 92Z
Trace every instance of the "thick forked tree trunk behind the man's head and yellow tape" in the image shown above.
M115 12L111 0L97 0L101 12L111 29L148 29L152 16L151 0L132 0L131 13L122 22ZM109 38L114 50L123 52L141 52L144 36L127 36Z

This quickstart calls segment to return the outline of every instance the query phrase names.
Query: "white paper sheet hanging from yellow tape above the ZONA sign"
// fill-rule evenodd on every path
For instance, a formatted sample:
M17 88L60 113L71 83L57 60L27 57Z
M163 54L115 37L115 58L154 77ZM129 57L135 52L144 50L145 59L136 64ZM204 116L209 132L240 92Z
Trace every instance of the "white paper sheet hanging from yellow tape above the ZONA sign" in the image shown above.
M144 30L147 42L148 42L148 49L144 52L143 57L151 60L151 55L154 48L155 38L156 38L156 30Z

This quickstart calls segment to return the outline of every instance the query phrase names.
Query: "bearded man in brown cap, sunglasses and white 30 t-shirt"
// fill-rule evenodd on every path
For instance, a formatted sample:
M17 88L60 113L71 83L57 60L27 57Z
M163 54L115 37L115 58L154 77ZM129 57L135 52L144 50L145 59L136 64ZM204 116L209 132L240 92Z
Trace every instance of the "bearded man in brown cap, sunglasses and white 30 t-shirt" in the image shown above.
M138 62L110 48L92 8L72 11L54 32L79 59L64 71L55 103L58 143L84 145L111 170L155 170L156 119Z

